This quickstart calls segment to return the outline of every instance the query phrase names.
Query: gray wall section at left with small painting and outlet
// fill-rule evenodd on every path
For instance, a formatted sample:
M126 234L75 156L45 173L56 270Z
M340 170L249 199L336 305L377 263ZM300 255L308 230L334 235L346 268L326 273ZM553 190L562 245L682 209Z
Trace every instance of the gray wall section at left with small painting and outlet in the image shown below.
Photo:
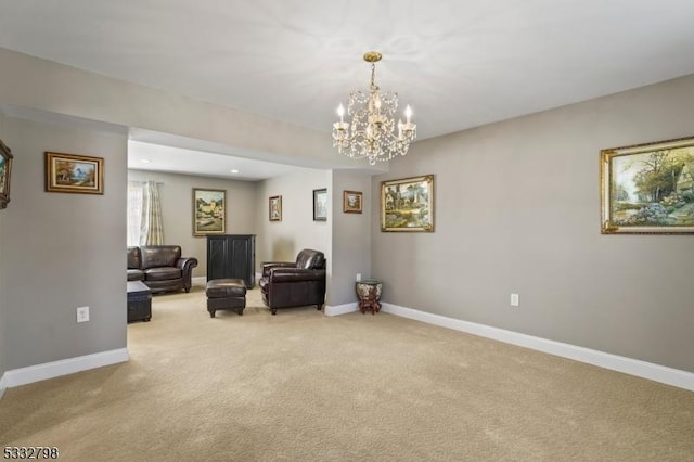
M125 130L5 117L14 153L2 211L3 369L126 347ZM104 194L44 192L43 152L104 158ZM76 323L76 308L91 320Z

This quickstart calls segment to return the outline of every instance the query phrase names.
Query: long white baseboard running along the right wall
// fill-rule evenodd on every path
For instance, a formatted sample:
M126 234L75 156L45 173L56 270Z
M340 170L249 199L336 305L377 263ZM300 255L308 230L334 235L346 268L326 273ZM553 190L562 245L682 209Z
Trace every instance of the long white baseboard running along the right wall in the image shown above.
M535 337L532 335L520 334L503 329L491 328L489 325L477 324L475 322L461 321L459 319L419 311L412 308L403 308L397 305L384 303L382 306L382 311L400 316L402 318L414 319L416 321L439 325L441 328L467 332L468 334L479 335L481 337L548 352L550 355L561 356L563 358L586 362L694 392L694 373L692 372L667 368L665 365L612 355L590 348L583 348L576 345L549 341L547 338Z

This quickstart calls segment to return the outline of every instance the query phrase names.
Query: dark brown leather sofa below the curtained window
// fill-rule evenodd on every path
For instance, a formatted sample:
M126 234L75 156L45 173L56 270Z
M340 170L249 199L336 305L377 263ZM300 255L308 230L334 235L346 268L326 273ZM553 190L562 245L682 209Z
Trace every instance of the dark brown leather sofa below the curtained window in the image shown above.
M180 245L128 247L128 281L142 281L152 293L191 290L197 258L181 257Z

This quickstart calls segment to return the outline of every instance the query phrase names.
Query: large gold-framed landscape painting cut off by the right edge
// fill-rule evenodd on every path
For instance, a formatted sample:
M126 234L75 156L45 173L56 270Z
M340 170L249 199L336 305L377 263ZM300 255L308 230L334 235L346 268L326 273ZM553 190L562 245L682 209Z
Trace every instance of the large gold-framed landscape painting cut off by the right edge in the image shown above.
M694 233L694 137L601 151L603 234Z

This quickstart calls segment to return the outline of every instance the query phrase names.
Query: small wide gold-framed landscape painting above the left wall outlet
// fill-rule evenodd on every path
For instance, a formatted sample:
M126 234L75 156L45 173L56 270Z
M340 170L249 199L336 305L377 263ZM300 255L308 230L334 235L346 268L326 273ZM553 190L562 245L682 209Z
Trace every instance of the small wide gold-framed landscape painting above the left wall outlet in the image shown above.
M103 194L103 157L47 152L46 191Z

